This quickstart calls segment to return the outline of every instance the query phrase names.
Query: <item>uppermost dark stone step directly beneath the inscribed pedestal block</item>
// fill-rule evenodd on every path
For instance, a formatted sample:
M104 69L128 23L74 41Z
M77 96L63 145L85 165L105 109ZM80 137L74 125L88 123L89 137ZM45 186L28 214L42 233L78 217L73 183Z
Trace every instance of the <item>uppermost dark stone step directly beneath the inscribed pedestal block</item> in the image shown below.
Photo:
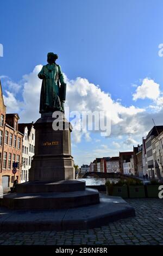
M17 184L17 193L72 192L85 190L85 181L61 180L58 182L28 181Z

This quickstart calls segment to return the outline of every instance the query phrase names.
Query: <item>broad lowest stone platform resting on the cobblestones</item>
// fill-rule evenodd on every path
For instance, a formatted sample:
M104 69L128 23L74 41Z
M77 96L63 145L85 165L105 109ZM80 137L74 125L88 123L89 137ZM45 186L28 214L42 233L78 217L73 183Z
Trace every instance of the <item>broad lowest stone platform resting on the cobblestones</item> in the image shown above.
M134 216L134 208L121 197L102 195L99 204L68 210L8 210L0 207L0 231L87 229Z

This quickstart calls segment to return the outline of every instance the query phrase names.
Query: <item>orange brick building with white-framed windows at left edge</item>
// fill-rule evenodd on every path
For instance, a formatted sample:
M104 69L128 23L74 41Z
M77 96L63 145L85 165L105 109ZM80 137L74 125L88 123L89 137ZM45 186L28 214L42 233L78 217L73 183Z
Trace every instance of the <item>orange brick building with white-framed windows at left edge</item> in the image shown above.
M1 83L0 97L0 186L7 191L14 182L13 162L18 163L16 176L20 182L23 135L18 131L18 114L6 114Z

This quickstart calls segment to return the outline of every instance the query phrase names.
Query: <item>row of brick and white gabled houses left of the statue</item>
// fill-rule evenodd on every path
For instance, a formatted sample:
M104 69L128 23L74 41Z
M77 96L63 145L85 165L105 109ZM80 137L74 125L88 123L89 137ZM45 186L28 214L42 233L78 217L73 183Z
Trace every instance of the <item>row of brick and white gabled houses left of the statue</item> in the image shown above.
M14 162L17 162L15 179L18 183L28 181L35 151L35 130L33 123L18 123L18 114L7 114L6 108L0 81L0 186L9 190L14 182Z

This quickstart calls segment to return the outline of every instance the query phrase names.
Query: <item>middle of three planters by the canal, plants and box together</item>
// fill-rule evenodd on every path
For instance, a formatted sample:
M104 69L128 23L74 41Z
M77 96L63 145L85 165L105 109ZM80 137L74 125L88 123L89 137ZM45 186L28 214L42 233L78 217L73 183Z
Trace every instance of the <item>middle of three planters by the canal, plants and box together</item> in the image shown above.
M141 180L128 179L127 180L129 197L130 198L143 198L145 196L145 187Z

